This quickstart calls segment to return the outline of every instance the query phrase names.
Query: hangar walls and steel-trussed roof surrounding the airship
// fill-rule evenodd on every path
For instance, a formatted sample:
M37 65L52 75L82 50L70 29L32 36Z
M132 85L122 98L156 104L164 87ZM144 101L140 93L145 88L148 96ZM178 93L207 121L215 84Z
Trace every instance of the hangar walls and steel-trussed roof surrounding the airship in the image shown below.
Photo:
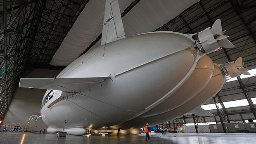
M242 57L243 67L251 73L228 80L201 106L213 116L185 114L155 125L157 131L162 133L167 128L170 133L256 132L254 0L118 2L126 37L152 31L192 34L221 19L223 30L227 30L225 35L230 36L228 40L235 47L208 56L218 64ZM105 0L3 0L0 5L0 131L6 128L11 132L19 126L21 131L39 132L48 127L40 118L28 122L31 115L40 116L45 90L19 88L20 78L54 78L72 61L100 46ZM70 139L75 138L67 137Z

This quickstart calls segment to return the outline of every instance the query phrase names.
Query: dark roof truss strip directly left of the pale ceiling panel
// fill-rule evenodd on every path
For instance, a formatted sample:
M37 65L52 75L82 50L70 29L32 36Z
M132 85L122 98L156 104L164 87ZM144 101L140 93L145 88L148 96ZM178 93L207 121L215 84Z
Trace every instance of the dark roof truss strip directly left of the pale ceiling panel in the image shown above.
M53 0L45 3L37 33L29 46L30 66L44 68L49 65L57 48L88 2L89 0Z

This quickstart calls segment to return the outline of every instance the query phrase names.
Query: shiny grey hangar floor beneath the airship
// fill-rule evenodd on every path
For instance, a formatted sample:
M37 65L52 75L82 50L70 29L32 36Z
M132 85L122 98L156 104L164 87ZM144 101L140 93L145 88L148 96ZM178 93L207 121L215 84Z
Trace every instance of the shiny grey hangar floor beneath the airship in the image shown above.
M0 144L256 144L256 133L150 135L151 142L145 142L145 135L57 138L57 134L0 132Z

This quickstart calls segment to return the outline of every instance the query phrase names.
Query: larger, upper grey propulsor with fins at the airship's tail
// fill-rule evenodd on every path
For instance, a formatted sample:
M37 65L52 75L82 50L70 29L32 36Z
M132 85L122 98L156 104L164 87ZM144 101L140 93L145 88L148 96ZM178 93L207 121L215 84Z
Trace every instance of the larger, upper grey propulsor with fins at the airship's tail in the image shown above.
M228 35L224 35L226 30L222 31L221 21L217 19L213 26L206 28L203 31L197 33L201 47L204 48L206 54L220 50L221 48L233 48L233 45L227 38Z

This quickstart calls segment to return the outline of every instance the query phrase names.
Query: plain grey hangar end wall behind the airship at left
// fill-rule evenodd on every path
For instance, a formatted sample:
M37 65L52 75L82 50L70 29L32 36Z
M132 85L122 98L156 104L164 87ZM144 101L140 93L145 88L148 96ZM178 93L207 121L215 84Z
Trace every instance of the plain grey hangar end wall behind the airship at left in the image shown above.
M48 70L48 69L35 69L26 78L53 78L60 73L61 70ZM40 131L47 126L39 118L37 122L31 122L28 124L29 116L37 114L40 116L40 106L43 99L43 95L46 90L40 89L28 89L17 87L14 96L12 98L11 105L5 115L3 123L26 123L28 125L27 130ZM4 126L0 127L2 131Z

